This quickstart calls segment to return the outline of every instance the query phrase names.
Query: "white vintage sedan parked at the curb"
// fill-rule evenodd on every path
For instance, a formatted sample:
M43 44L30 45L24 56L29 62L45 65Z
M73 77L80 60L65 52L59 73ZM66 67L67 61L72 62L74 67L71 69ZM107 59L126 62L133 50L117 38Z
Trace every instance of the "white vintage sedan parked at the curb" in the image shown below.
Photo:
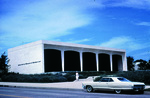
M145 84L141 82L131 82L123 77L103 77L100 81L90 81L82 83L83 89L87 92L94 90L113 90L117 94L123 90L132 90L139 93L144 93Z

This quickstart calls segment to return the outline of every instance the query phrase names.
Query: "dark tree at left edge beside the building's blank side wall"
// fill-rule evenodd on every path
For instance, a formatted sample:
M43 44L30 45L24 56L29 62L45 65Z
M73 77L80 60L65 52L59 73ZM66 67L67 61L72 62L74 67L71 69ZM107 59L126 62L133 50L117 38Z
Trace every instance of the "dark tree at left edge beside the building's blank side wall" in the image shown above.
M5 55L5 52L0 57L0 73L7 73L9 66L8 66L8 57Z

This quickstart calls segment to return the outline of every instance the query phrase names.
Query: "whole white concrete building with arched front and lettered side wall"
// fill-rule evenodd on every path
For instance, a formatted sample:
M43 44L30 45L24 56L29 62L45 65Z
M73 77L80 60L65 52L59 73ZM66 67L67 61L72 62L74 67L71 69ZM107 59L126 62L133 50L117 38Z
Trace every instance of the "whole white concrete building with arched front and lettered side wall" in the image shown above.
M11 72L127 71L126 51L40 40L8 49Z

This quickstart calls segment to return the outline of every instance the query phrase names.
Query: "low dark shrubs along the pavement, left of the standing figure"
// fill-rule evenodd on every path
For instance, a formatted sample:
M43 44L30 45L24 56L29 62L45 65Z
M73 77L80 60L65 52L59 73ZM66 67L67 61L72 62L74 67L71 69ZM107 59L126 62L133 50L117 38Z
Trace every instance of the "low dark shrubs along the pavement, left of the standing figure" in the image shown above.
M2 76L5 82L65 82L67 79L61 75L23 75L7 74Z

